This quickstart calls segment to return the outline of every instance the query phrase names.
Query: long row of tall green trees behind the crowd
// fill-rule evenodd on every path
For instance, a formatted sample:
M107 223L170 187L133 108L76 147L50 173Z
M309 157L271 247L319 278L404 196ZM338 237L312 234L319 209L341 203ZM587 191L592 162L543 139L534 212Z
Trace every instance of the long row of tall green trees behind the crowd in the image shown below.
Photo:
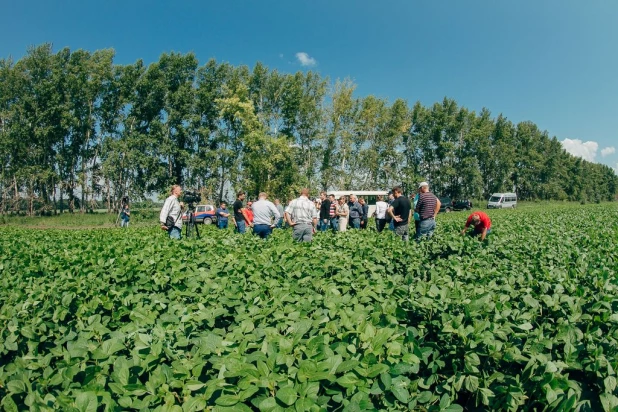
M616 196L608 166L568 154L530 121L445 98L430 107L355 95L349 80L163 54L114 64L113 50L32 47L0 60L2 211L86 210L165 194L413 187L453 198Z

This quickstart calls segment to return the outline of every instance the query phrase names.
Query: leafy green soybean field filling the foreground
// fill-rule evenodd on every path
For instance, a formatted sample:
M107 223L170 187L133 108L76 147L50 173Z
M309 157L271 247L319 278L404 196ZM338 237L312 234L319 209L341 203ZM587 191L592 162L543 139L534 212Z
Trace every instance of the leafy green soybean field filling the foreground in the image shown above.
M0 227L7 411L618 410L618 207L296 244Z

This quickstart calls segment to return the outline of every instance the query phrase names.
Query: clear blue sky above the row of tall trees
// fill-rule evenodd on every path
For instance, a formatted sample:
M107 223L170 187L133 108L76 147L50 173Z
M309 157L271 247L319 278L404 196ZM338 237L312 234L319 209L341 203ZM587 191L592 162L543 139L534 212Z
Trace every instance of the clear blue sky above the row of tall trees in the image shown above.
M116 63L194 52L350 77L358 95L531 120L618 168L618 1L0 0L0 57L51 42ZM305 53L306 55L299 55ZM301 56L301 59L298 58ZM302 64L301 60L305 63Z

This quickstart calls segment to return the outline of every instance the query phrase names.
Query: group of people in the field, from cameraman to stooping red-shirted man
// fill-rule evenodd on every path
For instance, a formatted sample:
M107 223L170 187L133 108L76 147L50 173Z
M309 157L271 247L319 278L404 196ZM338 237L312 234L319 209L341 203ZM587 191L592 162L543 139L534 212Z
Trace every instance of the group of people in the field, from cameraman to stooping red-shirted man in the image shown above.
M171 238L180 238L182 219L178 197L181 194L180 186L173 186L171 195L166 199L161 209L161 228L167 230ZM281 205L279 199L274 203L268 200L268 195L261 192L258 200L244 204L246 194L239 192L233 204L233 210L228 210L222 202L216 211L217 225L226 229L231 219L236 232L246 233L247 228L263 239L268 238L274 228L284 225L292 228L292 237L299 242L309 242L316 231L345 232L348 228L365 229L369 220L369 206L363 198L354 194L349 197L341 196L335 199L334 195L320 193L319 200L309 198L309 189L302 189L300 196L291 200L287 207ZM388 225L402 240L408 241L410 234L417 242L423 238L431 238L436 228L436 216L440 211L440 200L429 191L429 184L422 182L418 186L415 196L410 200L403 195L401 187L396 186L385 200L377 197L375 217L376 230L382 232ZM414 222L414 232L411 223ZM474 227L469 234L480 236L485 240L491 231L491 220L485 213L473 212L464 225L462 234L468 233L468 228Z

